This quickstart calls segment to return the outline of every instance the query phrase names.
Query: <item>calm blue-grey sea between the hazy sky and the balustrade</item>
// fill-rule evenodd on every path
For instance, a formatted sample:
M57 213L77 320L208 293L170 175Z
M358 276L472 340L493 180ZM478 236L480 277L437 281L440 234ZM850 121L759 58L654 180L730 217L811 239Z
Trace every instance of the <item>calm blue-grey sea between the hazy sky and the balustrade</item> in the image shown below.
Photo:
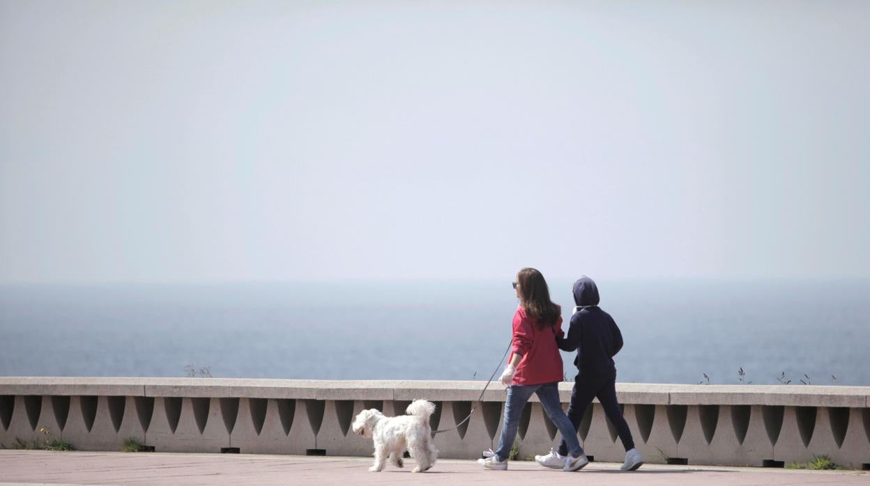
M567 322L571 282L550 286ZM870 385L870 281L599 288L620 382ZM509 281L3 286L0 376L485 379L516 306Z

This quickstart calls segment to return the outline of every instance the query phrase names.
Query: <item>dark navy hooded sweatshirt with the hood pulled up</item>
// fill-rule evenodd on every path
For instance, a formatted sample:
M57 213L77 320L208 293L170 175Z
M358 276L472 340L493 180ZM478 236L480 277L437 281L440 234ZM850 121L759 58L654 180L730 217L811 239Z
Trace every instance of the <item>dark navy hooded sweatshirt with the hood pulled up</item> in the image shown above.
M616 374L613 356L622 349L622 333L610 314L601 310L598 287L588 276L574 283L574 303L568 334L556 337L559 350L577 350L574 365L581 375Z

